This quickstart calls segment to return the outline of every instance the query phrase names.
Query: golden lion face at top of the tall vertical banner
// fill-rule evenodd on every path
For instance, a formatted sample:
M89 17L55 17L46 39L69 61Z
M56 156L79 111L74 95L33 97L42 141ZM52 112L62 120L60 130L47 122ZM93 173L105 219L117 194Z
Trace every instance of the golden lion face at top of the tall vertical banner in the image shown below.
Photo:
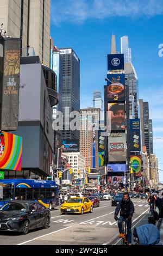
M4 75L12 76L20 73L20 50L5 51Z

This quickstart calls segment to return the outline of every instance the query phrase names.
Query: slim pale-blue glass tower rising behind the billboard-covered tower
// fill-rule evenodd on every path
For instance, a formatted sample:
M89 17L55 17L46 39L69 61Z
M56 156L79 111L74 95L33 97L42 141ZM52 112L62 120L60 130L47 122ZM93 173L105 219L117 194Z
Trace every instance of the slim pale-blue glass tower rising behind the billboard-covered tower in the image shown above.
M131 63L131 48L129 48L128 36L124 35L121 38L121 53L124 54L124 63Z

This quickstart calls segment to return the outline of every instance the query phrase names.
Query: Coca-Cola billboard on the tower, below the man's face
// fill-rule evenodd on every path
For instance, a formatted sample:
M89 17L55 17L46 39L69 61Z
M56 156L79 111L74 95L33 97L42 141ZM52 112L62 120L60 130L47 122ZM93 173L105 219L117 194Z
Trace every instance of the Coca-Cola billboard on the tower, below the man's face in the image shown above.
M110 133L108 156L109 162L126 162L126 133Z

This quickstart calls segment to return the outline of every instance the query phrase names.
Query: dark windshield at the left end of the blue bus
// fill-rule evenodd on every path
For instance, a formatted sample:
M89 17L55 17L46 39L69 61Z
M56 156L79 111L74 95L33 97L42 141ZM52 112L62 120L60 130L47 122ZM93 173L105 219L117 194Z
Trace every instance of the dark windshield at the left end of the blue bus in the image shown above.
M0 201L13 200L14 188L11 184L0 184Z

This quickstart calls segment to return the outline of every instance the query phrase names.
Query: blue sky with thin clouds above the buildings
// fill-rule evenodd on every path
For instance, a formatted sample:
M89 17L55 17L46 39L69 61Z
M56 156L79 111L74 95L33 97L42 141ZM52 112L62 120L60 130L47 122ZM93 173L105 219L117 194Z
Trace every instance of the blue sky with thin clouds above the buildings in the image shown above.
M93 90L104 91L111 35L128 35L139 79L139 99L149 102L154 153L163 183L163 0L51 0L51 36L80 59L80 108L93 106ZM161 46L162 44L162 46ZM159 56L159 51L160 55ZM159 139L158 139L159 138Z

